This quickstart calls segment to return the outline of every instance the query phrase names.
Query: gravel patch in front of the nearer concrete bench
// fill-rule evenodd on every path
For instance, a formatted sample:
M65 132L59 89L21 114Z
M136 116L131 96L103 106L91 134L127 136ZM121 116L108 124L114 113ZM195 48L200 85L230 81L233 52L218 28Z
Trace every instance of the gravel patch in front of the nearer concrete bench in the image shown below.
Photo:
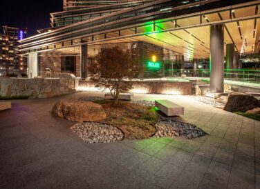
M156 123L157 132L155 138L159 137L185 137L187 139L194 139L207 135L206 132L197 128L191 123L181 123L178 121L165 120Z

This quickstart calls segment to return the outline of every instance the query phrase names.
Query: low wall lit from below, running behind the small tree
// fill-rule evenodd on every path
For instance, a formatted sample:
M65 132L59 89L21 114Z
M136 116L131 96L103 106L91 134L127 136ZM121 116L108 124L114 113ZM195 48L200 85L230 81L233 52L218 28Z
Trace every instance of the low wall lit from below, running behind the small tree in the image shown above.
M125 81L127 82L127 81ZM133 89L125 92L148 94L194 94L192 82L177 81L133 81ZM92 81L80 81L79 90L100 91Z

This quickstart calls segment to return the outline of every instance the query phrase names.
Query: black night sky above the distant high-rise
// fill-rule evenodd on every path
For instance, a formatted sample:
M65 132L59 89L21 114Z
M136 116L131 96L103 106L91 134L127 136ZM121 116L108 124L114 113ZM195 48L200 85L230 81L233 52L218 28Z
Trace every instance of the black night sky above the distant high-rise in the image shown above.
M50 27L50 12L62 11L62 0L1 1L0 33L2 26L28 28L28 35Z

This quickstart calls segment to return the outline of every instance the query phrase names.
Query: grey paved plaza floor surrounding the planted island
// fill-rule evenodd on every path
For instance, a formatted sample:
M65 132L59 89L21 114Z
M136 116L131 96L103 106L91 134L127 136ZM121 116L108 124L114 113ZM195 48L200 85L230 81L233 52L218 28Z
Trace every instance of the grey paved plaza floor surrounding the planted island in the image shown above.
M102 96L80 92L52 99L12 101L0 112L0 188L260 188L260 121L189 97L183 119L209 135L84 143L72 121L50 114L58 99Z

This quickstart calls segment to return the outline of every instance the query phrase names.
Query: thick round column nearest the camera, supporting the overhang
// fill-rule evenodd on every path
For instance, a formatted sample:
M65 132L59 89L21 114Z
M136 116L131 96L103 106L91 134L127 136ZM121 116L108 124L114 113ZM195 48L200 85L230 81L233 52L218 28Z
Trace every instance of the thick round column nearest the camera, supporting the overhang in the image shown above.
M224 26L210 26L210 92L224 90Z

